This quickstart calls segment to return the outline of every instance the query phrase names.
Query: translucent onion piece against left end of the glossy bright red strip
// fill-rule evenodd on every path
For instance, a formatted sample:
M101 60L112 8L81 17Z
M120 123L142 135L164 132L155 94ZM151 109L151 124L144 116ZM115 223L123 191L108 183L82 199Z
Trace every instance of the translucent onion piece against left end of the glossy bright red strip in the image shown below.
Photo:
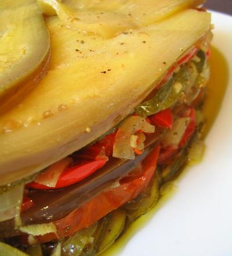
M56 183L61 173L70 165L72 161L72 158L66 157L56 163L53 163L53 165L50 165L45 172L39 173L34 182L48 187L56 187Z

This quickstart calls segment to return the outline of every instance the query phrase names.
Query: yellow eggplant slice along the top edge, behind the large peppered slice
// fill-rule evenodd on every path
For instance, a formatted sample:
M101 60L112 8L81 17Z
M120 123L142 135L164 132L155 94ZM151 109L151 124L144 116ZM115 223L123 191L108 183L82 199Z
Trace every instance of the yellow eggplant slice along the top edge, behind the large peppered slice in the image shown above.
M99 34L104 38L114 37L125 30L148 26L179 10L202 2L201 0L162 2L136 0L133 4L129 4L128 1L115 0L112 2L39 0L40 5L44 3L41 5L44 13L54 15L52 9L55 10L63 26ZM136 19L131 19L133 16L136 16Z

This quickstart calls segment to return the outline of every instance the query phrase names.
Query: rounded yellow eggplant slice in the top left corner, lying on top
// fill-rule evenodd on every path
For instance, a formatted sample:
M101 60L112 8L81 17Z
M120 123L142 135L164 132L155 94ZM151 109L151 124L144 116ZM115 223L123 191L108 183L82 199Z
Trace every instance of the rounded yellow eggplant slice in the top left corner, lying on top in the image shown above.
M1 107L12 97L16 100L27 78L34 79L31 75L48 57L50 42L42 14L31 0L1 1L0 34Z

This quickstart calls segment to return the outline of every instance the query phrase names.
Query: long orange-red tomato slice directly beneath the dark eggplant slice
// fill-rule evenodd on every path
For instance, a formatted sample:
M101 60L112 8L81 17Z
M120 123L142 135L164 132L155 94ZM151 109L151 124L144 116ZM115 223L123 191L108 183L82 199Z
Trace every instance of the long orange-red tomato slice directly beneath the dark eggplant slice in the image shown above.
M119 181L117 187L110 187L108 190L96 195L82 207L75 209L63 219L53 222L56 226L56 233L38 236L41 243L70 236L98 221L109 212L137 197L149 185L156 169L156 163L160 152L160 145L142 162L143 172L139 176L127 176Z

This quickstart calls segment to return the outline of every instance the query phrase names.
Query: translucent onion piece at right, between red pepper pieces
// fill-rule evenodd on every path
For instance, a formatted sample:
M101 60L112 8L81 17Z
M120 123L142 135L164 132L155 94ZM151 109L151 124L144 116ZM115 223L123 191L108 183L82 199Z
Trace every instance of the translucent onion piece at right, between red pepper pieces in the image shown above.
M168 131L162 144L164 147L177 146L182 139L184 131L189 125L190 118L179 118L173 123L172 130Z

